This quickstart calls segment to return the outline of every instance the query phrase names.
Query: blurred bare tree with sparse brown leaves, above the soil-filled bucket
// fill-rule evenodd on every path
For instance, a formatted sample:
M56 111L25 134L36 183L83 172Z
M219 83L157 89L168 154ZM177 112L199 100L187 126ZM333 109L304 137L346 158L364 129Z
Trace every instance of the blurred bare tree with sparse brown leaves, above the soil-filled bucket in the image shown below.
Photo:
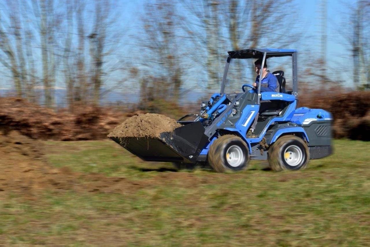
M176 100L179 97L182 70L176 26L174 2L159 0L145 6L140 43L146 48L147 56L142 64L151 67L152 75L162 81L160 90L154 84L149 87L153 89L154 98L172 96Z

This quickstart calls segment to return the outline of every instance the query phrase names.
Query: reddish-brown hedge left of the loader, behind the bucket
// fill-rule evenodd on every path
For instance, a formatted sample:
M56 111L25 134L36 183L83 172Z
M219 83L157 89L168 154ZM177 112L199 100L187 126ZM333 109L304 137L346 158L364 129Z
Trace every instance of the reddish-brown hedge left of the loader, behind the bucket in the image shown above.
M0 97L0 127L36 139L79 141L105 139L125 119L112 109L86 106L73 113L51 109L19 98Z

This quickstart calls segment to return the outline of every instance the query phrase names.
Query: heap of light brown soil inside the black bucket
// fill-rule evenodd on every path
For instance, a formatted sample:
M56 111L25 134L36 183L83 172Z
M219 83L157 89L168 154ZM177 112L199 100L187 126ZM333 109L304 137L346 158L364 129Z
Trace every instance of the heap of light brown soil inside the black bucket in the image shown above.
M160 114L138 114L126 119L108 135L108 137L153 137L162 132L171 132L181 125L176 120Z

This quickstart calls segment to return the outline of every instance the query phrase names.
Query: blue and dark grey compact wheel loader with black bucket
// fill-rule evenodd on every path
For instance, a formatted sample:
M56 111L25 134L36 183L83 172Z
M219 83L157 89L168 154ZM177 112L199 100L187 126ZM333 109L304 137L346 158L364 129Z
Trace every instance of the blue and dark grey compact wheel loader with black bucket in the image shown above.
M309 159L332 153L332 115L323 109L297 108L297 51L288 49L246 49L229 51L221 91L202 102L199 114L178 120L182 126L163 132L159 138L115 138L129 152L148 161L195 165L209 163L217 172L238 171L250 159L268 160L272 170L299 170ZM292 91L285 89L283 71L273 72L279 92L261 92L240 83L240 92L225 92L229 64L233 60L292 58ZM262 81L262 73L259 82ZM254 89L253 89L254 88ZM247 132L256 119L252 136Z

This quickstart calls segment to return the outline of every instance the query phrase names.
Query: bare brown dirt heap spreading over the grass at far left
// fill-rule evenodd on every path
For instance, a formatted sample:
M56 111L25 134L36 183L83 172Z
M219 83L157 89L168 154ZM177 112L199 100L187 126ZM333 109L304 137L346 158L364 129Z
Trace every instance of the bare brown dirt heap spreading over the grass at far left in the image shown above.
M26 199L34 200L45 189L125 194L148 186L122 177L54 168L47 163L41 141L1 128L0 157L0 198L9 193L20 193Z

